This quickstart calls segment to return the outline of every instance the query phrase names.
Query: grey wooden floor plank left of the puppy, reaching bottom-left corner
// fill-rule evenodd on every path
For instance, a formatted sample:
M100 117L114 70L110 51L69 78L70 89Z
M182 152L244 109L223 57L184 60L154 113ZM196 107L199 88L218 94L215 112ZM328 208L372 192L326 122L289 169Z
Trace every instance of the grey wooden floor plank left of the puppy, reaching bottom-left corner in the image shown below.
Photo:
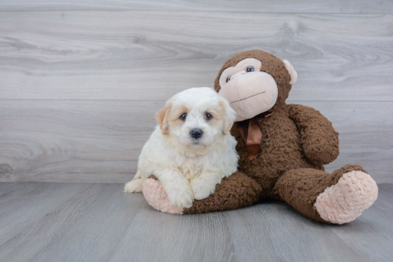
M0 260L108 261L105 257L113 256L136 211L147 203L142 194L124 197L119 184L85 185L84 191L70 194L69 200L59 202L29 227L14 227L19 230L0 246ZM56 191L50 193L56 196Z

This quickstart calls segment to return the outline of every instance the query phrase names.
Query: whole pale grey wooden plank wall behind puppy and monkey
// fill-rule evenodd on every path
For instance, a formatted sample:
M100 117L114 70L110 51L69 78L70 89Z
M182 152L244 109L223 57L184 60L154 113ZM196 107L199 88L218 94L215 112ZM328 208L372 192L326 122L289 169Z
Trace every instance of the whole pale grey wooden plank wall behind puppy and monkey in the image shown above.
M392 1L0 3L0 181L123 183L154 112L262 49L299 74L288 102L339 131L339 158L393 182Z

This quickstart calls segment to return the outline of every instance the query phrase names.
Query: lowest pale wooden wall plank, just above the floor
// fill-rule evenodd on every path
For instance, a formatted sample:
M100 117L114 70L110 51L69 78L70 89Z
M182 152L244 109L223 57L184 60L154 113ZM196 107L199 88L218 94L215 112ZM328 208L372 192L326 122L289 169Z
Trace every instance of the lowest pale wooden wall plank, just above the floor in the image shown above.
M391 183L393 102L297 101L339 131L340 156ZM0 181L124 183L164 101L0 101ZM377 113L376 113L377 112Z

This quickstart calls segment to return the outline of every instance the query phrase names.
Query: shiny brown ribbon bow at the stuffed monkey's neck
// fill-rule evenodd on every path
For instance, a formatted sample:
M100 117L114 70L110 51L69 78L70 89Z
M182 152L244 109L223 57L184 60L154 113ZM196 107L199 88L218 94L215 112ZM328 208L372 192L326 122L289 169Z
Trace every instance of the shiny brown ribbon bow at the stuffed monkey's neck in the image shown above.
M262 152L262 130L259 128L256 117L267 118L268 116L272 116L272 114L272 112L267 111L237 124L239 132L247 144L249 161L252 161L252 159L256 158Z

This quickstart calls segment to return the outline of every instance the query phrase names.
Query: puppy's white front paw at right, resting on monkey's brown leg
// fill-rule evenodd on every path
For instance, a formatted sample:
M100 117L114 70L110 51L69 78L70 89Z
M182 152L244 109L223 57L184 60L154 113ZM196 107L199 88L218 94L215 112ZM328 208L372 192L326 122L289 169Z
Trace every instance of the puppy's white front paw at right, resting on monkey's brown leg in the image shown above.
M194 193L194 198L201 200L214 193L217 183L221 183L221 175L216 172L204 172L189 183Z

